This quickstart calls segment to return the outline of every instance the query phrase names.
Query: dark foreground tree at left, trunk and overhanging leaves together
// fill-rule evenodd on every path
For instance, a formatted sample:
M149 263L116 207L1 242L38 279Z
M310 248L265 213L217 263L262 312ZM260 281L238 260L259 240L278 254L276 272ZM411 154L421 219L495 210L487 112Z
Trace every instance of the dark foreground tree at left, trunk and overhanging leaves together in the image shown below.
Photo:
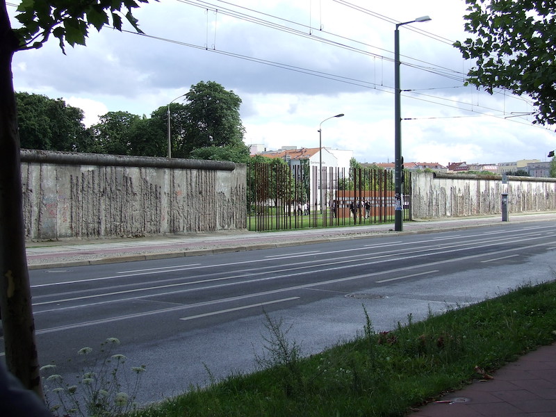
M52 36L65 44L85 44L88 28L112 22L122 30L122 15L137 30L131 10L148 0L26 0L19 3L13 29L0 2L0 311L8 369L28 389L42 395L35 345L31 291L25 253L20 143L12 82L16 51L40 48ZM122 8L124 11L122 12Z

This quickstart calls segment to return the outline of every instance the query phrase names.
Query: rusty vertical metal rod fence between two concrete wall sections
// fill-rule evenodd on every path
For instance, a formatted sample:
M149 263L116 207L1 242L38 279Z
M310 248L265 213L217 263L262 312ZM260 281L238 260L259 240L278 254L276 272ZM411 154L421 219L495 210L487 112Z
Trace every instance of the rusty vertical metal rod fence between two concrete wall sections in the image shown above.
M307 161L308 162L308 161ZM322 174L322 175L320 175ZM322 187L322 188L321 188ZM404 172L403 218L411 220L411 173ZM322 202L320 201L322 198ZM255 231L393 222L393 172L309 164L247 166L247 227Z

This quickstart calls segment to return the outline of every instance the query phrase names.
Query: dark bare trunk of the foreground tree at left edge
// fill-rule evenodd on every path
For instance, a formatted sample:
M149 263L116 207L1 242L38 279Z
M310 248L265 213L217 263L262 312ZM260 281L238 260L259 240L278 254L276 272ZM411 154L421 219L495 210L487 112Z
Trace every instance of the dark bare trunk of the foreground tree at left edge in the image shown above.
M0 3L0 312L8 369L42 396L25 252L12 57L18 41Z

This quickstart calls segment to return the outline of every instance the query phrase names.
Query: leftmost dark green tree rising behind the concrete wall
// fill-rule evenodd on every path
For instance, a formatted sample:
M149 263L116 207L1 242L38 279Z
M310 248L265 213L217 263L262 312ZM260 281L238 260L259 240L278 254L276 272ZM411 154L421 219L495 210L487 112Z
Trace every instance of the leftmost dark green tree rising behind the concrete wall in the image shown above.
M15 93L15 101L22 148L83 152L86 133L81 108L27 92Z

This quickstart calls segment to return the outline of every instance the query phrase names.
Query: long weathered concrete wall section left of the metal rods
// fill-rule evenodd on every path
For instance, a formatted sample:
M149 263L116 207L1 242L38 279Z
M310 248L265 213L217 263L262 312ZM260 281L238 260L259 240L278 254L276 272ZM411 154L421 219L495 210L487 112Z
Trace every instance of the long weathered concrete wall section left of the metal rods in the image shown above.
M22 150L28 240L245 229L246 167Z

